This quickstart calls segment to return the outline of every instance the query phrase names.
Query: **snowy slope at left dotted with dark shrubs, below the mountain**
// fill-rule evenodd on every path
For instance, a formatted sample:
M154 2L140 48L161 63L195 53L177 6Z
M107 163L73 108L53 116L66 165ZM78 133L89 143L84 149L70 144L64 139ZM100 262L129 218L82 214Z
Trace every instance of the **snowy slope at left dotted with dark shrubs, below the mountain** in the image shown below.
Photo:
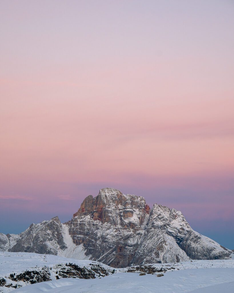
M99 278L112 273L113 268L108 265L90 260L38 253L0 252L0 293L60 278Z

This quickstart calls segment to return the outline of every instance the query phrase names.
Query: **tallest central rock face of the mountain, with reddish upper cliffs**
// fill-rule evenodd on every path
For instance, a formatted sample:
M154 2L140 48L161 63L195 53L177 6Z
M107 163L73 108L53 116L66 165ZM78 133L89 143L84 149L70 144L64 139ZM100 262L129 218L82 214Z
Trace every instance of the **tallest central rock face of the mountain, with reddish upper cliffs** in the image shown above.
M137 251L149 210L143 197L104 188L85 198L69 223L69 234L93 260L125 267Z

